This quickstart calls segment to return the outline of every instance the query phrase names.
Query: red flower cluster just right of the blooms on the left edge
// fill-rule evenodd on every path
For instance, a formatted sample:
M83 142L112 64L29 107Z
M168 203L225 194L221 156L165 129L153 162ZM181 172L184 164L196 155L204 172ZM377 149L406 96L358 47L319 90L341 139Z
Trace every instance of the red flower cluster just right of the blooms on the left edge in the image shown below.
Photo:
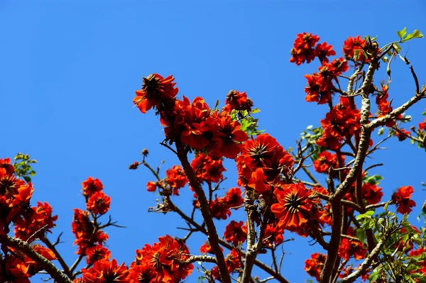
M23 215L23 219L16 221L15 226L15 237L21 240L28 240L33 235L30 242L38 238L40 235L44 235L45 232L50 232L50 229L55 226L54 221L58 220L58 216L52 216L52 207L50 204L45 202L37 203L36 207L31 207L30 210L26 211ZM41 230L41 228L45 229ZM35 232L38 234L34 235Z

